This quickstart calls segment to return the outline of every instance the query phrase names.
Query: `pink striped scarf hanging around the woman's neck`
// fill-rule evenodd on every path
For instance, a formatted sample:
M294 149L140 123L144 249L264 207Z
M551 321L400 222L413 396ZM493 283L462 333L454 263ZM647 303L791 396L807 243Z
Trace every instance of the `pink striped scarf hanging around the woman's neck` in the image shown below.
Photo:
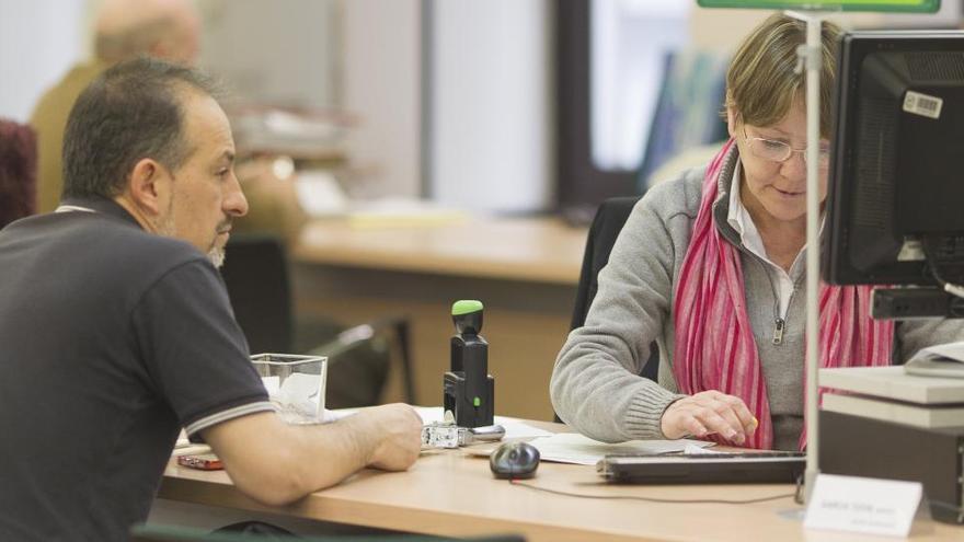
M674 300L676 344L673 373L680 393L707 390L743 399L760 425L743 446L770 449L773 425L767 384L760 366L743 291L743 267L735 246L713 222L713 201L730 140L710 163L700 209L682 261ZM820 284L820 367L891 365L894 324L870 318L869 286ZM803 354L801 354L802 356ZM805 376L801 357L801 378ZM721 437L714 440L724 442ZM806 447L806 429L800 449Z

